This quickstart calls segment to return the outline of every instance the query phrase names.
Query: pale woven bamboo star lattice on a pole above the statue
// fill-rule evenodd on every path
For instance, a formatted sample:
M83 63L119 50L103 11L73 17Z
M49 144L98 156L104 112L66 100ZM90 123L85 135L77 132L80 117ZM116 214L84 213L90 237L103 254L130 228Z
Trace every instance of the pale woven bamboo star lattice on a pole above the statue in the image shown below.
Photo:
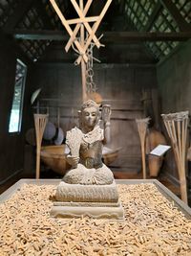
M78 17L70 20L66 20L55 0L50 0L50 2L54 11L57 13L60 21L62 22L62 25L70 35L69 41L65 47L66 52L68 52L72 46L74 52L78 54L78 57L74 63L77 65L81 63L82 100L84 102L87 100L86 63L88 62L88 49L90 48L91 43L94 43L97 48L103 46L99 42L101 36L99 38L96 37L96 31L109 6L111 5L112 0L106 1L103 10L97 16L86 16L93 3L93 0L79 0L78 2L76 0L71 0ZM93 23L93 25L90 25L90 23ZM71 25L74 25L74 30L72 29Z

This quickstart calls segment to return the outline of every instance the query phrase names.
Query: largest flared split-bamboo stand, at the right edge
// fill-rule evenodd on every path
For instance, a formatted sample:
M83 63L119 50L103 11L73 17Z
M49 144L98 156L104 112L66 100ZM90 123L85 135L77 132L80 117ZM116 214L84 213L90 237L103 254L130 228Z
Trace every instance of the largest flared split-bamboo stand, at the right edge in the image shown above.
M188 111L162 114L162 119L171 139L175 160L180 176L180 196L187 203L187 188L185 176L185 151L188 125Z

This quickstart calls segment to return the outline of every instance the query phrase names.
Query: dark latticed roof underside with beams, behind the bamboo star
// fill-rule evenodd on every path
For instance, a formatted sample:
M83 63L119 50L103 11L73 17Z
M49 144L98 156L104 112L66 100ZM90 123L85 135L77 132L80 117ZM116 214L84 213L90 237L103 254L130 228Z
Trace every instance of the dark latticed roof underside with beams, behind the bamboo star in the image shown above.
M70 0L56 3L67 19L76 17ZM104 3L94 0L88 15L99 14ZM0 28L32 61L46 60L53 47L63 47L69 39L49 0L1 0ZM125 46L136 42L157 62L180 41L191 38L191 1L113 0L97 32L101 34L101 42L113 49L114 56L120 51L122 55ZM105 50L103 56L107 62L110 51ZM69 54L70 60L73 54Z

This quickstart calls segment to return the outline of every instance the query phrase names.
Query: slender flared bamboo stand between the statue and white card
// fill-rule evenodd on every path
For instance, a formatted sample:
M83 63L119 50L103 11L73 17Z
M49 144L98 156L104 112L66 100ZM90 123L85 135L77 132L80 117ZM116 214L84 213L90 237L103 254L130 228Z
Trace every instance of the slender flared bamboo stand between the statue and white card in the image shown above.
M144 119L136 119L136 123L138 125L138 134L140 137L140 147L141 147L141 155L142 155L142 174L143 178L146 178L146 161L145 161L145 138L146 138L146 131L149 124L150 118Z

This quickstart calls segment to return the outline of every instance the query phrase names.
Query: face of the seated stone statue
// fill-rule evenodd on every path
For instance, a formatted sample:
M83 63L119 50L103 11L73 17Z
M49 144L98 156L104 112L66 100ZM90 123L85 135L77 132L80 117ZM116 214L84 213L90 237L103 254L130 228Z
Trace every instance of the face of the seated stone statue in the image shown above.
M96 126L98 112L95 106L84 108L82 111L83 124L88 128Z

